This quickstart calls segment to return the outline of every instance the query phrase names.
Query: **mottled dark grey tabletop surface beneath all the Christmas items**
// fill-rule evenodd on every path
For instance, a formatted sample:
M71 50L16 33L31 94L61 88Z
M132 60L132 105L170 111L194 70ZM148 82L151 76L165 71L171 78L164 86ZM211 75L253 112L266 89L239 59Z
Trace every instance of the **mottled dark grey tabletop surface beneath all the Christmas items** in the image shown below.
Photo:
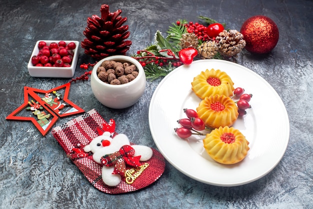
M82 41L86 19L101 4L127 17L132 46L128 55L166 32L178 19L197 22L203 15L240 30L251 16L265 15L279 28L279 42L265 56L242 53L237 63L263 77L281 97L290 121L290 138L278 165L266 176L236 187L197 182L166 162L151 186L128 194L95 189L65 156L56 140L29 122L6 121L23 103L23 86L48 90L69 79L34 78L27 62L37 40ZM0 7L0 208L311 208L312 197L312 1L1 1ZM93 62L79 49L79 65ZM149 101L160 79L147 81L132 107L113 110L93 96L90 82L71 85L70 99L85 111L95 108L116 120L116 131L156 148L148 126ZM264 98L264 102L266 98ZM73 117L72 117L73 118ZM63 118L56 125L71 118ZM270 119L270 118L269 118ZM266 131L266 130L264 130ZM231 173L229 174L231 175Z

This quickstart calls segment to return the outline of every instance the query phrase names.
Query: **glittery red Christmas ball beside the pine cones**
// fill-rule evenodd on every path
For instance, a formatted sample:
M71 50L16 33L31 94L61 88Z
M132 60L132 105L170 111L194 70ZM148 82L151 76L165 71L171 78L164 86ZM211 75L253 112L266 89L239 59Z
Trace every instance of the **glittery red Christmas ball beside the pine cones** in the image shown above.
M245 41L245 49L255 54L269 53L276 46L279 31L276 24L265 16L253 16L241 26L240 33Z

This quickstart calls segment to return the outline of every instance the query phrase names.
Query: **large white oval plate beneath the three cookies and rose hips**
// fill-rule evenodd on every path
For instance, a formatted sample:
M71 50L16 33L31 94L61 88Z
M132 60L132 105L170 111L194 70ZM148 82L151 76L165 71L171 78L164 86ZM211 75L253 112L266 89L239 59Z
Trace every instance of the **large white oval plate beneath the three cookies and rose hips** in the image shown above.
M206 69L226 72L234 87L253 95L247 114L233 127L249 141L250 150L239 163L224 165L212 160L203 148L204 136L179 138L174 128L186 118L183 108L196 109L201 101L191 90L193 78ZM149 106L149 126L163 156L185 175L211 185L236 186L261 178L282 158L289 140L286 109L275 90L259 75L224 60L199 60L170 72L155 89Z

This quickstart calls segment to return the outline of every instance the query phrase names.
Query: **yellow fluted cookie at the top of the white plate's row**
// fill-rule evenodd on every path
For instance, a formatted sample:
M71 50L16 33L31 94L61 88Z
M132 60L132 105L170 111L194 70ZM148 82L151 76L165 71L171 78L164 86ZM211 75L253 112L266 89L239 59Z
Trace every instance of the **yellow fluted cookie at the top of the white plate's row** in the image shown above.
M225 72L214 69L202 71L193 78L191 86L195 95L201 99L215 94L229 97L234 90L230 77Z

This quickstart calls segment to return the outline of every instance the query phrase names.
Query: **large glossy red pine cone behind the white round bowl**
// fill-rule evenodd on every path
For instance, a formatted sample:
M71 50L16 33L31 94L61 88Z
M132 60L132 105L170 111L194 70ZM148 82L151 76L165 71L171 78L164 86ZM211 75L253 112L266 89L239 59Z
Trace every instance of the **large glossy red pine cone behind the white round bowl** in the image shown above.
M111 55L125 55L131 45L128 26L122 26L127 18L119 16L121 10L109 12L108 5L101 5L101 18L96 15L87 18L87 27L83 31L86 37L81 42L81 47L86 55L96 60Z

